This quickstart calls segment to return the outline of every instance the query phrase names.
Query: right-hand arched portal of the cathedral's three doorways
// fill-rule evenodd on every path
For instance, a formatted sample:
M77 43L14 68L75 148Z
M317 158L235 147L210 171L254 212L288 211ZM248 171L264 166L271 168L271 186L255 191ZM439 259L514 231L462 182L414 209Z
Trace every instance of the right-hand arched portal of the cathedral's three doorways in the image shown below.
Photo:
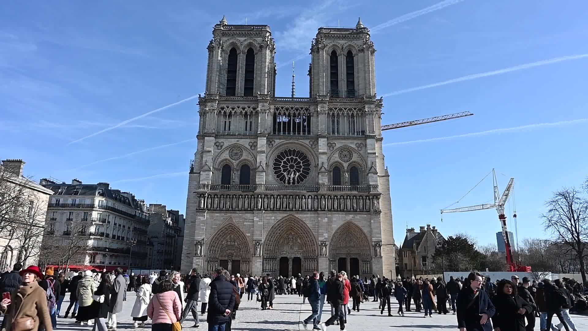
M330 240L329 260L332 269L350 276L369 276L372 272L372 250L363 230L352 221L343 223Z

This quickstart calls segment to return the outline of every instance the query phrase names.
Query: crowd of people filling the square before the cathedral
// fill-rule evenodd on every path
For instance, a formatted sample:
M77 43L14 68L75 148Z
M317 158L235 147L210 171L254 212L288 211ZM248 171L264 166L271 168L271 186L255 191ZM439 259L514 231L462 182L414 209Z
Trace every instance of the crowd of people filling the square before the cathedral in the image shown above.
M324 331L338 325L345 330L348 315L352 310L359 312L366 300L378 302L381 315L387 308L387 316L393 316L391 299L396 299L397 315L405 316L412 309L423 317L433 317L433 312L452 312L460 331L531 331L536 317L540 318L542 331L576 331L570 316L573 294L584 293L582 284L570 279L537 282L513 275L510 280L496 283L477 272L467 278L450 277L445 282L441 277L392 280L372 275L362 279L335 270L327 276L314 272L285 278L270 274L231 275L222 267L210 275L192 269L185 276L165 270L135 276L117 268L113 272L86 270L66 278L63 272L55 275L52 267L46 268L44 274L36 266L21 269L22 265L16 263L0 278L0 310L5 314L2 329L52 331L69 292L69 306L63 317L69 318L71 311L75 323L92 325L92 331L115 331L127 292L135 292L133 327L145 327L151 319L154 331L178 330L190 313L192 327L199 327L206 313L208 330L230 331L245 294L248 302L259 303L260 310L274 309L276 294L297 295L302 297L302 303L308 300L312 313L302 321L304 329L312 325L313 330ZM330 315L323 323L325 302L330 306ZM555 324L553 315L559 324Z

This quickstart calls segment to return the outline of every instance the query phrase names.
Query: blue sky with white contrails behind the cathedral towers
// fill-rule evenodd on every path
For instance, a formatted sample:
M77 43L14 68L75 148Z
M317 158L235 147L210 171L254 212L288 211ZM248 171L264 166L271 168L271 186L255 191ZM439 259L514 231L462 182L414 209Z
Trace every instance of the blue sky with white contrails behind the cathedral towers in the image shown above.
M475 113L385 131L398 243L407 225L425 224L446 236L465 231L480 244L495 243L496 211L446 214L443 222L439 214L492 168L501 190L515 177L519 240L544 237L543 202L588 174L588 3L256 3L263 9L241 1L2 5L0 157L23 158L26 174L37 179L108 181L183 212L197 101L121 123L203 92L206 46L223 14L230 24L270 25L276 94L289 95L296 59L300 97L308 96L316 29L355 26L361 16L377 49L383 123ZM492 197L488 177L455 206ZM512 210L511 202L507 216Z

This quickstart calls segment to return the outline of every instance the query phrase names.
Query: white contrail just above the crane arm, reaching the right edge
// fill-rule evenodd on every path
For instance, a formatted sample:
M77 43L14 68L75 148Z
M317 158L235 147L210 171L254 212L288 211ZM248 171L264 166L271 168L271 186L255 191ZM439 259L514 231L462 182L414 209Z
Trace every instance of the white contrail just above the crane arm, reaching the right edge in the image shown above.
M587 58L587 57L588 57L588 54L577 54L577 55L567 55L565 57L559 57L559 58L545 59L543 61L537 61L537 62L532 62L532 63L516 65L515 67L509 67L509 68L504 68L504 69L498 69L495 71L482 72L481 74L473 74L473 75L467 75L467 76L463 76L463 77L459 77L459 78L453 78L452 80L448 80L448 81L442 81L442 82L436 82L433 84L427 84L427 85L422 85L422 86L417 86L417 87L412 87L412 88L406 88L405 90L399 90L399 91L384 94L384 95L382 95L382 97L390 97L390 95L399 95L399 94L404 94L404 93L408 93L408 92L420 91L420 90L425 90L426 88L438 87L438 86L443 86L443 85L447 85L447 84L453 84L456 82L477 80L478 78L506 74L507 72L530 69L530 68L534 68L534 67L541 67L542 65L555 64L558 62L571 61L574 59L582 59L582 58Z

